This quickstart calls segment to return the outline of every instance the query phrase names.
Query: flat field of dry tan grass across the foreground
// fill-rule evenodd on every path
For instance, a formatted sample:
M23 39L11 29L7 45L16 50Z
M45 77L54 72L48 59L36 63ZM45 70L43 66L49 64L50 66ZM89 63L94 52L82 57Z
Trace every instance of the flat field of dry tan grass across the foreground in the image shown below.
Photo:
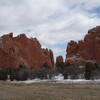
M0 81L0 100L100 100L100 83L27 85Z

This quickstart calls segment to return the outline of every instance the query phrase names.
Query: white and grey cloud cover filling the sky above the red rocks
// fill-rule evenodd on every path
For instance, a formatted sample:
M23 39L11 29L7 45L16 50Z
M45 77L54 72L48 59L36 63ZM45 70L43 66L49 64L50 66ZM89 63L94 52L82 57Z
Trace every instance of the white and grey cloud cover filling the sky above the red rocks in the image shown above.
M100 25L99 0L1 0L0 35L14 32L37 37L55 55L65 54L70 40L84 37ZM62 52L62 53L61 53Z

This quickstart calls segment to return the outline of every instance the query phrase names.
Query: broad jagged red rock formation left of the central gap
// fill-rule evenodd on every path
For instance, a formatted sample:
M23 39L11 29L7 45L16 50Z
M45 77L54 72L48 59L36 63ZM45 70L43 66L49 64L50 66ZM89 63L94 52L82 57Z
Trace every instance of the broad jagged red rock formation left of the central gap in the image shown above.
M0 38L0 67L17 68L20 64L28 67L40 67L47 63L54 67L52 50L42 49L36 38L27 38L25 34L13 37L13 33Z

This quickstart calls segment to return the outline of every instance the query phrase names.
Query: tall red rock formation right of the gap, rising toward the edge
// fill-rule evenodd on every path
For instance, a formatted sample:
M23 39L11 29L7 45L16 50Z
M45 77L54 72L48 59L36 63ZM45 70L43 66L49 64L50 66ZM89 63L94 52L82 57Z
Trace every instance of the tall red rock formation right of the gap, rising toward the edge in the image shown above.
M66 62L84 65L92 61L100 64L100 26L89 30L84 40L68 43L66 52Z

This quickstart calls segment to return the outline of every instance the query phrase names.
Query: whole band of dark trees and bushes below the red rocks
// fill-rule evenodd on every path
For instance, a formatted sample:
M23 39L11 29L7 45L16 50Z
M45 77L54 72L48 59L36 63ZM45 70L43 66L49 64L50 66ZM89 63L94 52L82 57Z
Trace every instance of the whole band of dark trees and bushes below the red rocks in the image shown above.
M100 79L100 65L87 62L85 67L80 68L74 64L57 62L56 67L51 69L47 63L44 63L40 68L28 68L21 64L17 69L1 69L0 80L51 79L58 74L62 74L64 79Z

